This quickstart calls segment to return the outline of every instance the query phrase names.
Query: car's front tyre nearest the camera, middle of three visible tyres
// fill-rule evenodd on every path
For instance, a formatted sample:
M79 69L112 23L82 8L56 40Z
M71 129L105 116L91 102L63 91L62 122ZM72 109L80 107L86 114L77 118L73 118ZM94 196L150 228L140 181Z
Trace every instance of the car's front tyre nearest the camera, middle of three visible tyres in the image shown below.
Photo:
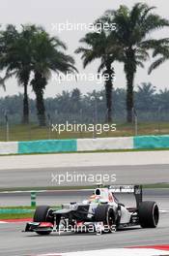
M115 214L114 209L107 205L100 205L96 208L95 219L97 222L103 222L104 227L112 231L113 225L115 224Z

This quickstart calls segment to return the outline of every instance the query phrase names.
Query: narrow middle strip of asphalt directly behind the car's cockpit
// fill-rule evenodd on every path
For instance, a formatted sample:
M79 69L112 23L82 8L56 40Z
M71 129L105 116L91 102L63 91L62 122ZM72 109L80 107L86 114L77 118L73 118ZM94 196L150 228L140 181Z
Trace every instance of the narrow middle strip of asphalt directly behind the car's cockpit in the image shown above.
M37 206L58 206L70 202L81 202L89 198L93 190L65 190L46 191L37 193ZM30 192L0 193L0 206L29 206L31 204ZM128 207L134 207L134 196L130 194L118 194L120 202ZM144 200L155 201L160 209L169 210L169 189L144 189Z

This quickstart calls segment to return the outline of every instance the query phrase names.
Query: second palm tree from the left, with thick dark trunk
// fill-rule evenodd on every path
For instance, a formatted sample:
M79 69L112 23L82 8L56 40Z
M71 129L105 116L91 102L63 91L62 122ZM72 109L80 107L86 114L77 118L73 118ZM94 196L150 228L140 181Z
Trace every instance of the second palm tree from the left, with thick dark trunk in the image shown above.
M32 70L34 74L31 84L36 94L37 112L40 126L45 126L45 108L43 92L52 72L64 74L76 72L74 60L62 49L66 45L56 37L50 37L42 28L33 38Z

